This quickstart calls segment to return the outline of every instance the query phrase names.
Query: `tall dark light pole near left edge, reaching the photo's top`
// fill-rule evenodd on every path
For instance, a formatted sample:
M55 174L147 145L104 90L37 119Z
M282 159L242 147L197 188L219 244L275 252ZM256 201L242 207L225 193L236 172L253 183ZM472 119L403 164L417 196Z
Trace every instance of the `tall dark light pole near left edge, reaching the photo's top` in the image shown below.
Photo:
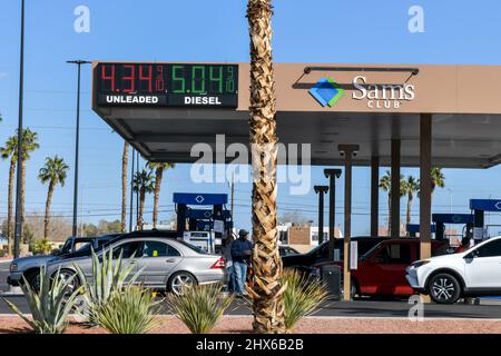
M22 96L24 88L24 0L21 1L21 51L19 60L19 118L18 118L18 167L16 169L16 227L14 227L14 257L19 257L19 245L22 236L21 185L22 185ZM8 237L9 238L9 237Z

